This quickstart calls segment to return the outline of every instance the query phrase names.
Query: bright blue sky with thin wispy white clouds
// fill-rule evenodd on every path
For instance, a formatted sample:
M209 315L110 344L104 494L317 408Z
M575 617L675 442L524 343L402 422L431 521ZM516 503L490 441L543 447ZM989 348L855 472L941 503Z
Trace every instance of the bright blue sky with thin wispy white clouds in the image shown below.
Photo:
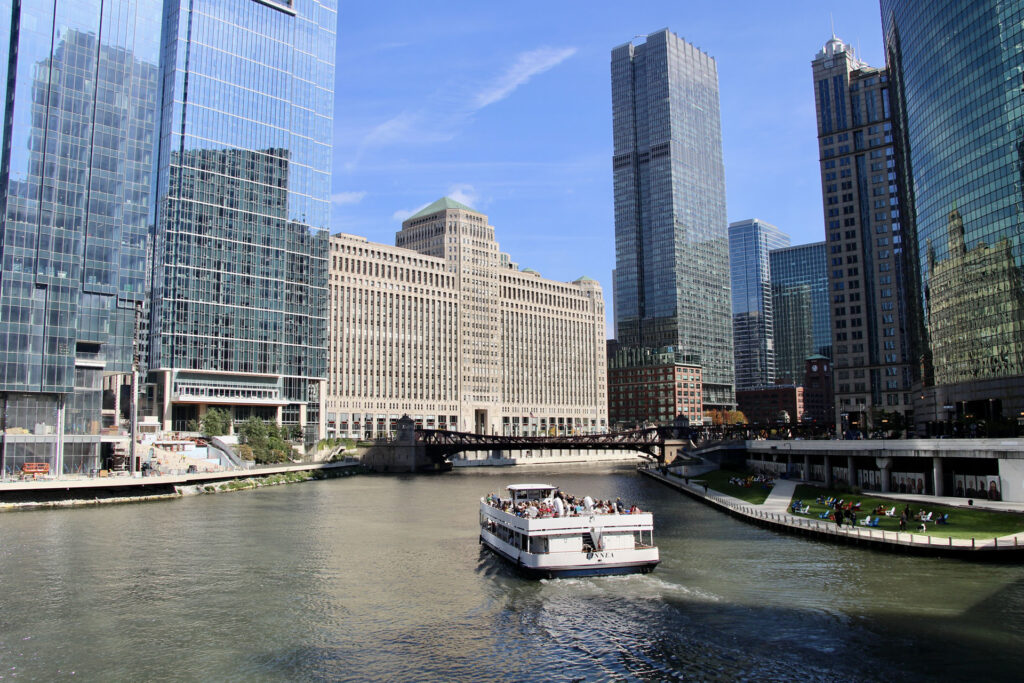
M883 66L868 0L339 2L331 231L394 244L451 197L544 278L604 289L611 49L668 28L718 62L729 221L823 239L811 59L835 26Z

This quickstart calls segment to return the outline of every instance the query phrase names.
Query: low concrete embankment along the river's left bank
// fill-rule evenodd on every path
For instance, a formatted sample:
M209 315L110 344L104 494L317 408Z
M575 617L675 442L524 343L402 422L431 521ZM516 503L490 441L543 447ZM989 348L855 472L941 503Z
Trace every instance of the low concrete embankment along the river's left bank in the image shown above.
M188 495L245 490L310 479L348 476L359 471L361 467L358 463L303 463L152 477L78 477L5 481L0 483L0 511L161 501Z

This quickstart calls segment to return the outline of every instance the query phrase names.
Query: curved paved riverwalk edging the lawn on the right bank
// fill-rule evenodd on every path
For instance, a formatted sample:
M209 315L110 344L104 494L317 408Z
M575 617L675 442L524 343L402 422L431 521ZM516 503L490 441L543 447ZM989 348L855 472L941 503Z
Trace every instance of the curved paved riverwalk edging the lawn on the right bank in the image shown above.
M691 479L660 472L653 467L641 467L641 474L657 479L703 503L717 507L735 517L760 524L778 531L808 536L834 543L865 546L877 550L907 552L923 555L955 556L971 559L996 561L1020 561L1024 559L1024 531L995 539L952 539L924 533L877 529L863 525L838 526L836 523L819 519L809 519L795 515L790 509L797 481L777 479L765 502L753 505L721 492L706 488L702 483ZM880 496L873 492L871 496ZM921 497L932 504L966 507L963 499ZM899 496L900 500L908 500ZM1022 512L1020 503L1000 506L1006 512Z

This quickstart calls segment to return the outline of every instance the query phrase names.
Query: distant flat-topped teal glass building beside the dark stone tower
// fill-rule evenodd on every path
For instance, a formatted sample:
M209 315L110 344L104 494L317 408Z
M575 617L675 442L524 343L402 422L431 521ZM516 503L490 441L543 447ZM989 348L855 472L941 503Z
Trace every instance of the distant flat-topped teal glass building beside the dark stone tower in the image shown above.
M775 378L807 386L805 361L831 358L828 254L824 242L768 253L775 323Z

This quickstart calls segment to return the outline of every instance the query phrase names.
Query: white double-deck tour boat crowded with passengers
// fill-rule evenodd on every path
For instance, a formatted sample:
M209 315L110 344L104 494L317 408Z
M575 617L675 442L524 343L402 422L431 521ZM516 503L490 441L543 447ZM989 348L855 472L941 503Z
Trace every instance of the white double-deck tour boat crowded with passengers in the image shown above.
M508 492L507 499L480 499L480 543L526 577L647 573L659 561L649 512L605 512L589 497L575 501L548 484Z

